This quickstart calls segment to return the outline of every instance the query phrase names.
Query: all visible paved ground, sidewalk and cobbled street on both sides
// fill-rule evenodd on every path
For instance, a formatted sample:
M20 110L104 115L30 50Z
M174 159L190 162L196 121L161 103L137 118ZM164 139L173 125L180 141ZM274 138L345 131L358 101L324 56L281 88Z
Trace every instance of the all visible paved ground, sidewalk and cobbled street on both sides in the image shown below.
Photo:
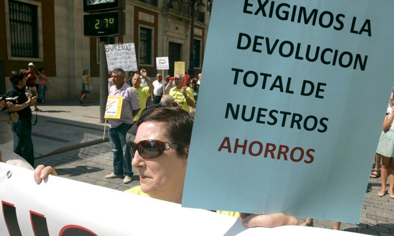
M122 179L105 179L112 172L112 151L102 140L99 101L80 104L78 100L49 101L39 104L37 125L33 127L36 165L50 165L61 177L120 191L139 185L138 172L130 184ZM34 112L35 116L35 112ZM35 118L33 118L34 120ZM373 157L371 157L371 163ZM369 179L360 224L342 223L341 230L367 235L394 235L394 199L379 197L380 179ZM299 219L302 223L305 219ZM315 227L332 229L332 222L315 220Z

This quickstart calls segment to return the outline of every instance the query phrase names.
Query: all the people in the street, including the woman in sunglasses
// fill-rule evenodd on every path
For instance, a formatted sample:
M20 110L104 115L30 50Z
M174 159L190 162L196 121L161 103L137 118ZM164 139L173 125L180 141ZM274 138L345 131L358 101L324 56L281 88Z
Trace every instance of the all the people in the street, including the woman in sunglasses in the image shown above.
M5 102L0 98L0 158L2 152L3 160L19 158L19 161L23 160L32 167L34 157L30 106L36 105L37 96L38 101L46 101L47 82L42 68L38 69L38 75L33 69L34 65L30 63L28 70L12 71L12 85L6 95L18 97L16 103ZM129 71L126 76L123 69L116 68L109 71L108 76L108 95L123 97L123 103L120 119L108 119L113 171L105 178L121 178L124 184L128 184L132 181L132 166L138 170L140 185L126 192L180 203L201 74L190 78L188 75L176 73L173 77L166 75L163 79L163 75L157 73L156 80L152 82L145 69ZM36 79L38 88L35 87ZM90 82L89 70L85 69L82 74L82 95L79 99L81 103L84 99L90 102ZM148 105L148 101L153 105ZM39 110L36 106L35 109ZM381 177L382 188L378 195L383 197L388 192L391 198L394 198L393 112L392 93L375 155L374 169L370 174L371 178ZM12 122L12 127L8 125L8 120ZM11 130L18 137L15 148ZM39 165L35 169L34 179L39 183L48 174L57 175L56 170L51 167ZM389 175L390 187L386 191ZM217 212L241 217L247 227L298 224L295 217L282 213L250 215L220 210ZM313 219L308 218L302 225L313 226ZM339 230L340 222L333 222L333 228Z

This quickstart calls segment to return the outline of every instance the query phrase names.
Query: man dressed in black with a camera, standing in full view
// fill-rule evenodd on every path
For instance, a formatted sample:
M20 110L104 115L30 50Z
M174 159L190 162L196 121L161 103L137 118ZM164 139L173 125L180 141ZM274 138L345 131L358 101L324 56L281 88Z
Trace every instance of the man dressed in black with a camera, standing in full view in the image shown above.
M30 165L34 166L34 151L32 141L32 110L30 106L37 101L37 97L27 98L25 87L28 73L25 70L12 71L9 80L12 85L6 95L9 97L18 97L18 102L13 110L17 111L19 121L12 123L12 131L18 136L18 143L15 147L15 153L23 157Z

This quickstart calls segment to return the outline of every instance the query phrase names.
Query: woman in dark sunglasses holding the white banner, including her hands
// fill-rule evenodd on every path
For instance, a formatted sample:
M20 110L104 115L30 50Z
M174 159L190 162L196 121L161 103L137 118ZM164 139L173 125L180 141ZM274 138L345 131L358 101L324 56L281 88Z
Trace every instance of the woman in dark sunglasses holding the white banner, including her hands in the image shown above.
M194 118L181 108L157 108L142 116L131 152L131 165L138 170L140 186L126 192L181 203L183 184L189 154ZM56 172L51 167L38 166L34 171L37 183L48 174ZM237 212L217 211L239 216ZM295 217L285 214L246 215L241 214L242 223L247 227L275 227L297 225Z

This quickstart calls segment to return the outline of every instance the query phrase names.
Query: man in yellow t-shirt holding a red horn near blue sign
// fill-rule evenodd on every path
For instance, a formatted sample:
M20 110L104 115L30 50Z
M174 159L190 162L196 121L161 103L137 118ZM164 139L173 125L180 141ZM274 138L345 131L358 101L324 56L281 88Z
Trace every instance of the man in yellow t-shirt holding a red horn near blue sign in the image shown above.
M175 87L169 91L169 95L178 102L182 109L190 112L190 108L194 107L196 101L194 100L192 89L189 87L183 87L184 80L185 76L183 74L176 73L174 78Z

